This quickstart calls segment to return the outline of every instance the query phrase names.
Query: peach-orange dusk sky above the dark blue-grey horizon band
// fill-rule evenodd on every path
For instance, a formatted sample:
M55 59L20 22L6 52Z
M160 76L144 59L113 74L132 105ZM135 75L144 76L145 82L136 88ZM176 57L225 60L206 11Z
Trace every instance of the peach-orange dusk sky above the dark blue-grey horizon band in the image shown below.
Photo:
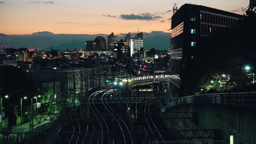
M174 2L178 8L192 3L243 14L249 0L0 0L0 33L169 32L172 13L166 11Z

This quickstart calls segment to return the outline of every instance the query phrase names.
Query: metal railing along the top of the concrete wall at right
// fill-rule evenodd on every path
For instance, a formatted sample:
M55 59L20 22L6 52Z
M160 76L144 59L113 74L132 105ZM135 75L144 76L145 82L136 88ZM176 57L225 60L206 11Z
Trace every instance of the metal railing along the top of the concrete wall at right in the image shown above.
M190 95L187 97L179 98L178 104L219 104L256 106L256 92Z

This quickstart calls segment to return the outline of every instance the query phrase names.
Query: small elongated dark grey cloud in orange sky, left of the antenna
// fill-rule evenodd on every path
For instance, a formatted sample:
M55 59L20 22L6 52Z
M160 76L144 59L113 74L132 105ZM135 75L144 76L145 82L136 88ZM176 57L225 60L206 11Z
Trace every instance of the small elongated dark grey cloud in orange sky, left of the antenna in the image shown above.
M124 20L155 20L155 19L159 19L159 18L161 18L161 16L158 16L155 14L150 14L150 13L142 13L142 14L137 14L137 15L135 15L135 14L120 15L120 19L124 19Z

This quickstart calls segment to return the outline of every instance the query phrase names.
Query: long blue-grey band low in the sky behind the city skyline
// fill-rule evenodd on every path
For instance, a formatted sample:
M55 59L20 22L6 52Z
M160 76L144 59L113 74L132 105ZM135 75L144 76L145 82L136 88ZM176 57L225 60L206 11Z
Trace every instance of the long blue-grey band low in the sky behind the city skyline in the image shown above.
M135 37L136 33L131 33ZM49 50L51 45L53 49L85 49L85 41L94 40L98 35L106 38L108 34L54 34L51 32L37 32L26 35L7 35L0 33L0 46L5 47L27 47L29 49L45 49ZM124 39L126 34L119 34L119 39ZM171 38L170 33L161 31L152 31L151 33L143 33L144 48L151 49L154 47L159 50L166 50L169 47Z

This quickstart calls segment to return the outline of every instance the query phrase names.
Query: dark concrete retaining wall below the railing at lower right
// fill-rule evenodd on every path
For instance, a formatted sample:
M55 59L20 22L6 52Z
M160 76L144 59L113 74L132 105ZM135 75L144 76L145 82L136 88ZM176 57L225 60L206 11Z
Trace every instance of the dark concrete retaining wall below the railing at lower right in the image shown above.
M195 112L195 115L193 114L193 120L190 123L198 129L221 130L223 140L229 140L231 130L236 131L237 142L254 143L253 140L256 140L256 111L253 107L179 105L173 109ZM179 126L184 127L184 124L180 123Z

